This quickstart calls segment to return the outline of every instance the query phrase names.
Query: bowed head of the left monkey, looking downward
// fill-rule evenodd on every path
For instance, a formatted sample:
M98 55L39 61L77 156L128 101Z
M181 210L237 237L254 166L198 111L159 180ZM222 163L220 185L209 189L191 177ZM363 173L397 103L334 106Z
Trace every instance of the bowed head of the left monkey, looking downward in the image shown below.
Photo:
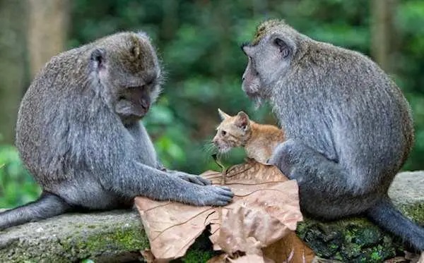
M93 44L90 71L96 92L123 122L139 121L160 93L161 69L143 32L123 32Z

